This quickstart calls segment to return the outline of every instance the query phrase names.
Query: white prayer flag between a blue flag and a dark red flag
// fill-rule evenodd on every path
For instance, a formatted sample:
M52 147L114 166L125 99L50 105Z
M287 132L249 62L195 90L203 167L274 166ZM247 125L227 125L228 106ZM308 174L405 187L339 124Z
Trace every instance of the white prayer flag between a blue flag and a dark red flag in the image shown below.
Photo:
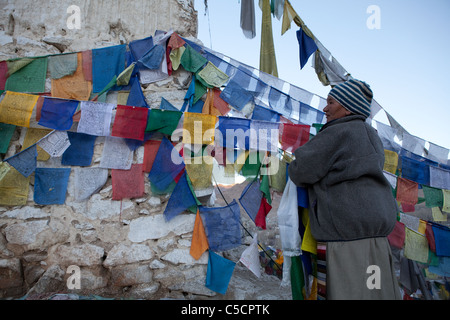
M109 136L114 106L112 103L81 101L81 117L77 132L93 136Z

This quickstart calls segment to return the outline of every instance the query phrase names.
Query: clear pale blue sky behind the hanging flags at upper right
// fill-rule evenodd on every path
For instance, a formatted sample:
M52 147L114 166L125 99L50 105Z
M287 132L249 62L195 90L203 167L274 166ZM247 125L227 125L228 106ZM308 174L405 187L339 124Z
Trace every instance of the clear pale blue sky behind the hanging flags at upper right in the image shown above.
M410 134L450 149L450 1L448 0L291 0L316 38L354 78L370 84L374 98ZM369 29L371 5L380 9L379 29ZM196 0L198 38L217 52L259 67L261 10L255 0L256 37L240 28L240 0ZM278 77L324 98L311 65L300 70L292 22L281 35L272 16ZM382 111L380 111L382 112ZM387 123L385 117L376 119Z

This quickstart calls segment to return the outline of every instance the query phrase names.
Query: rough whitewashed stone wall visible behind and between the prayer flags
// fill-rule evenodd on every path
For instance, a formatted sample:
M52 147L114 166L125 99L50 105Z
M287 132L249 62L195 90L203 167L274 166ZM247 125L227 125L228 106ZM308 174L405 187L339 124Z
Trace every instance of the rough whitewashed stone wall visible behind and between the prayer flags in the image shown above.
M69 29L71 5L80 8L80 28ZM78 0L0 1L0 60L100 48L129 43L159 30L174 30L185 37L197 34L192 0ZM191 75L180 68L169 78L143 88L151 107L161 97L175 106L183 103ZM108 101L117 101L114 94ZM17 127L8 153L20 150L27 129ZM98 137L92 166L103 150ZM61 167L58 158L38 167ZM134 153L142 163L143 147ZM205 287L207 253L199 260L189 254L195 215L184 213L170 223L163 217L168 196L155 196L146 180L146 195L139 199L112 200L111 176L103 188L84 202L74 201L73 170L64 205L41 206L33 202L33 177L26 206L0 208L0 298L39 297L49 292L98 294L144 299L289 299L290 288L275 276L256 278L237 264L226 295ZM225 197L237 199L246 183L224 188ZM213 193L202 201L218 206L224 201ZM279 247L276 208L269 214L267 230L256 230L241 210L251 234L266 245ZM215 199L215 201L214 201ZM237 262L251 243L243 230L244 245L224 252ZM71 268L79 268L80 289L73 288Z

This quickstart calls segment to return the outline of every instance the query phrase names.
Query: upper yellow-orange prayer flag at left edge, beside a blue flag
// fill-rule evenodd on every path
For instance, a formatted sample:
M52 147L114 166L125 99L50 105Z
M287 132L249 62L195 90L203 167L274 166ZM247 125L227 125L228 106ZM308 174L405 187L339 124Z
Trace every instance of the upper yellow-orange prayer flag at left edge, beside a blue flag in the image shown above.
M37 95L6 91L0 101L0 122L29 128L38 98Z

